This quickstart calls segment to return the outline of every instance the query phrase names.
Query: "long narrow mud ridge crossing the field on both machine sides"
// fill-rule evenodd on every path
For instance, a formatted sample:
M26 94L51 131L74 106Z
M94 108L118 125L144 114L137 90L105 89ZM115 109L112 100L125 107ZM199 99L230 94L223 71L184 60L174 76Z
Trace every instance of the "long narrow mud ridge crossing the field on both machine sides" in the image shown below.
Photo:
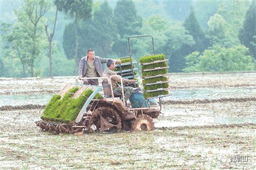
M164 100L163 105L191 105L191 104L206 104L206 103L217 103L217 102L248 102L256 101L256 98L220 98L220 99L195 99L195 100ZM43 109L46 105L4 105L0 107L0 111L11 111L11 110L28 110L28 109Z

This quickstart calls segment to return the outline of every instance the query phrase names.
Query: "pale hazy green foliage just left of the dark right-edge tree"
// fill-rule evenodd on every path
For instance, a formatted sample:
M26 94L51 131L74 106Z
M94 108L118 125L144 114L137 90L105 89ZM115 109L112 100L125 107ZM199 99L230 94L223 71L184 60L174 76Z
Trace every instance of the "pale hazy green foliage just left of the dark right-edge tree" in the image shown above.
M220 44L227 48L240 45L238 33L243 26L249 4L249 1L227 1L219 4L216 13L208 21L207 37L212 45Z

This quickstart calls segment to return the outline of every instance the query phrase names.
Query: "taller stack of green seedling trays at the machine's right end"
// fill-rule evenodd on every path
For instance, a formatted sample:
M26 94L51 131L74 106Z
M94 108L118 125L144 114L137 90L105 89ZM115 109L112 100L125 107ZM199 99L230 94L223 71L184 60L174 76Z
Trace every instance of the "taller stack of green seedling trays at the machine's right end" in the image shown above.
M162 98L170 95L167 61L164 54L141 57L144 98Z

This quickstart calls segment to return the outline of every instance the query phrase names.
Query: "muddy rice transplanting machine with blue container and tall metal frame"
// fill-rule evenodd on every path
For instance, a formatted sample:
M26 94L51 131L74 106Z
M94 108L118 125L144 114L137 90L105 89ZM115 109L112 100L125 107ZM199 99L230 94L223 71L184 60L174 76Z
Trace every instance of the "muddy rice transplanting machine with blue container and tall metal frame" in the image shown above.
M98 79L107 79L107 81L102 82L102 86L94 85L82 85L82 84L67 84L60 92L61 98L64 98L65 94L70 93L69 90L74 87L78 87L78 90L72 94L72 98L78 98L81 96L82 92L86 89L92 89L93 92L90 96L87 97L85 103L82 105L81 110L79 111L76 118L69 122L56 122L51 121L50 119L43 119L36 122L44 131L52 131L54 133L73 133L73 134L82 134L85 131L94 132L94 131L120 131L121 129L126 131L151 131L154 129L153 118L157 118L161 113L162 109L162 98L167 97L171 94L158 95L151 98L144 98L143 93L148 92L158 92L158 91L170 91L171 87L160 88L156 90L143 91L138 86L139 79L136 79L138 75L135 74L135 71L138 68L135 67L137 64L136 61L132 59L130 39L137 37L151 37L153 45L153 53L155 55L155 46L154 39L152 35L141 35L133 36L128 38L129 45L129 56L121 58L121 60L128 59L128 62L115 65L118 75L107 77L98 77ZM149 55L150 56L150 55ZM165 62L167 60L157 60L151 63L143 63L144 65L150 65L159 62ZM124 67L123 67L124 66ZM122 69L122 68L125 68ZM155 68L159 69L159 68ZM152 69L151 69L152 70ZM153 69L154 70L154 69ZM164 75L154 75L154 76L144 76L142 78L155 78ZM136 79L134 84L128 86L134 87L134 92L129 98L129 102L124 100L124 92L115 92L112 89L111 78L120 77L120 78L130 78ZM84 79L94 79L94 78L84 78ZM169 81L158 81L155 83L149 83L147 85L157 85L162 83L168 83ZM121 81L121 86L125 86ZM104 87L104 88L103 88ZM103 98L95 98L96 94L102 94Z

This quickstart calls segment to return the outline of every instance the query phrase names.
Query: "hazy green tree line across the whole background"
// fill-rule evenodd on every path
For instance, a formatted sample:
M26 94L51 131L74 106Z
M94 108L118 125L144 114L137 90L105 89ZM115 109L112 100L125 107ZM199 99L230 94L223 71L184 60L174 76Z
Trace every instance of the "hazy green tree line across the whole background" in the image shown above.
M218 2L204 30L195 12L207 2L198 2L200 7L192 1L167 3L164 14L154 13L152 3L160 7L148 2L143 11L131 0L117 1L114 10L108 1L24 0L14 10L14 24L1 22L0 76L77 75L88 48L118 59L129 54L128 37L141 34L154 36L156 53L169 59L169 72L255 70L255 1ZM62 42L54 40L60 14L69 21L62 25ZM153 53L147 38L132 39L131 48L136 60Z

